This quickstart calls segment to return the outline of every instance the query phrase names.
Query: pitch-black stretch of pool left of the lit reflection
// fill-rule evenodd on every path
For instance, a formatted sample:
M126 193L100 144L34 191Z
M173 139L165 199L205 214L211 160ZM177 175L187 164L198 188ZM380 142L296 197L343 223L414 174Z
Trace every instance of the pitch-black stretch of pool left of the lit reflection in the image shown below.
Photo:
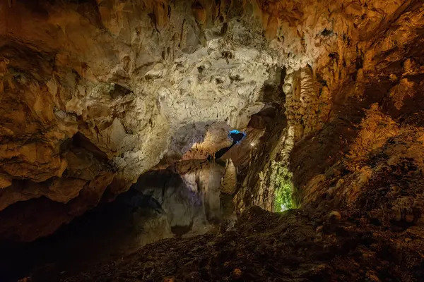
M131 243L131 190L109 204L77 217L45 238L30 243L1 243L1 281L16 281L33 274L33 281L58 281L61 272L78 272L81 266L124 254Z

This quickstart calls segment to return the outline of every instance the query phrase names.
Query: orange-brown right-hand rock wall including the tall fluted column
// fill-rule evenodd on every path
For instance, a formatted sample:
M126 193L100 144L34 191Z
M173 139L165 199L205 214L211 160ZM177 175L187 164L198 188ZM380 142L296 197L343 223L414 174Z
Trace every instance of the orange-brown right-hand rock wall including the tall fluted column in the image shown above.
M261 141L265 157L249 167L238 207L254 203L272 209L260 199L273 194L270 167L277 161L293 171L303 205L345 209L349 216L375 214L363 202L374 199L371 187L386 191L381 197L389 187L403 189L391 180L380 182L384 177L378 171L410 177L406 159L413 164L411 175L419 178L422 171L421 152L412 148L418 148L422 131L423 3L261 1L259 7L264 32L286 69L281 87L287 127L269 130ZM402 202L393 203L398 218L406 213L399 210L420 214L423 191L413 190L395 198ZM378 207L379 221L389 221L381 215L386 209ZM409 215L409 220L419 217Z

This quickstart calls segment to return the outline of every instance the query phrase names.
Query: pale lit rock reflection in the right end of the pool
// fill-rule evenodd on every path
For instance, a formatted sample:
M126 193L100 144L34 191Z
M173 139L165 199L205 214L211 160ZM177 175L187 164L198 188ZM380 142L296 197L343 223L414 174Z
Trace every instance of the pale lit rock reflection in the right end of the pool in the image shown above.
M153 198L160 206L146 221L146 208L139 204L134 222L141 232L141 245L158 237L204 234L216 228L222 219L220 180L225 168L205 161L184 161L176 169L181 174L170 170L146 173L133 187L141 192L139 195ZM159 222L160 227L153 231L152 225Z

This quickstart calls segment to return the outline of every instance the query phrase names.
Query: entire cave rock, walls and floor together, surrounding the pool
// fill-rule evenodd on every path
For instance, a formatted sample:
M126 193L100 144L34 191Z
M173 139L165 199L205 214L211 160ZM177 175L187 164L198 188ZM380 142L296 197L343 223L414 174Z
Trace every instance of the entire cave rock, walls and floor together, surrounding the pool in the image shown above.
M2 239L149 170L194 185L189 161L237 129L217 160L238 169L234 228L67 281L424 277L423 1L38 2L0 2ZM283 216L250 208L276 209L276 171L300 207Z

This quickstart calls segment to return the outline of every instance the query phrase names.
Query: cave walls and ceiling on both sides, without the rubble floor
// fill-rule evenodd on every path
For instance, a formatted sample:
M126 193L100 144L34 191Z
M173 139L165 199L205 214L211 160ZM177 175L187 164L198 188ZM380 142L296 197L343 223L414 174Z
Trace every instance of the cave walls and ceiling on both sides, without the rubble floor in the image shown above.
M47 198L69 221L161 159L203 154L192 147L210 125L249 127L264 104L285 115L264 125L255 188L236 201L270 209L260 183L278 161L306 202L351 171L340 195L355 202L375 173L365 155L401 137L419 148L422 13L397 0L1 0L0 209Z

